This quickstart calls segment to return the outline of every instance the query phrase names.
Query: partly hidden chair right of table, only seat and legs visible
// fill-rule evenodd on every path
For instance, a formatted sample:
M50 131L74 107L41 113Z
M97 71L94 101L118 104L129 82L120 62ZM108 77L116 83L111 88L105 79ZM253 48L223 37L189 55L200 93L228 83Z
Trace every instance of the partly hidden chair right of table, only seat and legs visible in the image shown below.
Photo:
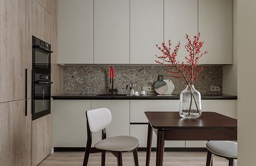
M206 143L207 159L206 166L210 166L213 154L229 160L229 166L234 165L234 159L237 159L237 142L232 141L209 141Z

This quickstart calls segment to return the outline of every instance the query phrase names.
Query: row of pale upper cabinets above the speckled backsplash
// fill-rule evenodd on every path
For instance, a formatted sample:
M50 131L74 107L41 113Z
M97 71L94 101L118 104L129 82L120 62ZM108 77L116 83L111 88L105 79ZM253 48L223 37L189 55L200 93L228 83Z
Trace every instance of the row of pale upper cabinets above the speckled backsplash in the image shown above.
M51 12L50 0L35 1ZM57 30L58 64L155 65L155 45L169 39L181 42L181 63L185 34L198 32L209 52L200 64L233 63L232 0L59 0Z

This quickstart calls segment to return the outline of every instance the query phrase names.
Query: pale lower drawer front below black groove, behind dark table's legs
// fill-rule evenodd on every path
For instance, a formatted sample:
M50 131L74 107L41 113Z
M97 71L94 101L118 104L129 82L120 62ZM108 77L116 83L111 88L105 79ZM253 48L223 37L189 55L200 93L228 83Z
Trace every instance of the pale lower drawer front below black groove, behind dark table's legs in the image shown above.
M140 141L139 147L147 147L147 125L131 125L131 136ZM156 147L156 134L153 131L152 147ZM165 141L167 148L184 148L185 141Z

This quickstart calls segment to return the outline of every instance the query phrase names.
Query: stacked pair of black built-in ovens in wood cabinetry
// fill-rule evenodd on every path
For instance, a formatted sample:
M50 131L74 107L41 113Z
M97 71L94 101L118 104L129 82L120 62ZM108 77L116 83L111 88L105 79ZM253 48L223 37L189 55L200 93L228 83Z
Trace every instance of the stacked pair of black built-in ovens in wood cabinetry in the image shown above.
M32 37L32 120L51 113L51 45Z

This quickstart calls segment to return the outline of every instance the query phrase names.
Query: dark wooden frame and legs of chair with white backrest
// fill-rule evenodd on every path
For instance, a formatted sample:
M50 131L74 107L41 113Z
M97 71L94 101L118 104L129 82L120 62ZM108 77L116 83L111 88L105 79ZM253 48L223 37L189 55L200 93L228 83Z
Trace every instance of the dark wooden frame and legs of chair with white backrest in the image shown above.
M87 126L87 143L85 148L85 157L83 158L83 166L87 166L88 159L90 153L101 153L101 166L105 166L106 163L106 152L111 152L117 158L117 165L122 166L122 152L114 152L114 151L105 151L102 149L97 149L95 147L91 147L92 144L92 133L89 127L88 118L87 118L87 111L86 111L86 126ZM101 131L101 139L106 139L106 128L102 129ZM132 149L131 151L124 151L124 152L132 152L134 155L134 164L135 166L139 166L139 159L137 154L137 147Z

